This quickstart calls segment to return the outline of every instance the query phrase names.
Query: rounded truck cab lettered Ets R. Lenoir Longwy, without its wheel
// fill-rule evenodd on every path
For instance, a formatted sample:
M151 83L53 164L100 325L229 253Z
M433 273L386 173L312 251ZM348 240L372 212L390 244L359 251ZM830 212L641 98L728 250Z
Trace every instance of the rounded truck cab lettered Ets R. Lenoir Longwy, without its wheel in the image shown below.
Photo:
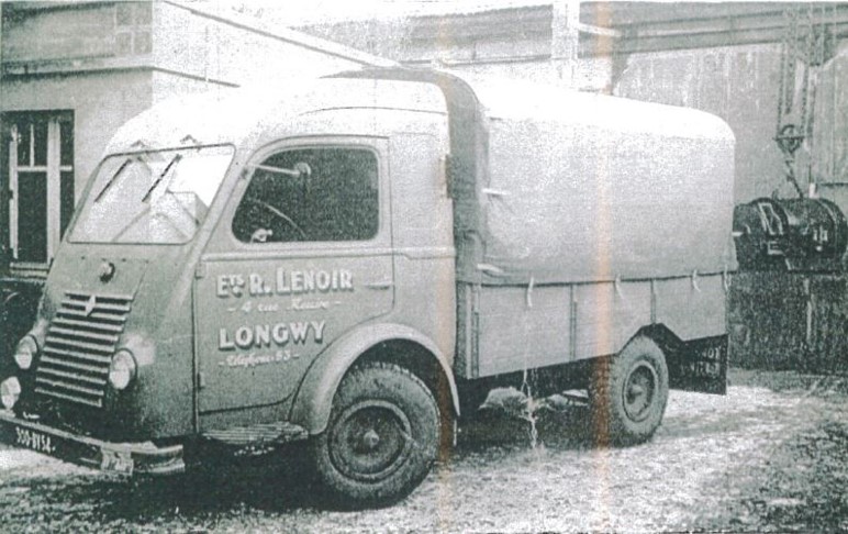
M391 98L375 108L375 91ZM19 444L62 455L32 430L49 425L131 444L134 470L179 470L185 436L320 433L330 405L297 393L327 394L369 347L428 355L433 387L449 376L437 88L328 79L215 99L152 110L110 144L18 351L32 348ZM163 444L159 459L136 442ZM86 463L118 455L97 448Z

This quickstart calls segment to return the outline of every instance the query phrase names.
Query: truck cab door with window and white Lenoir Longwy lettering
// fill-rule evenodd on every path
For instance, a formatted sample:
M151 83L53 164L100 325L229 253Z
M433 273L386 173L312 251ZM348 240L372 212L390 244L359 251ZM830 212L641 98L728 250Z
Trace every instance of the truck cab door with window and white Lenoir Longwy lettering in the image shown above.
M328 138L253 158L194 285L201 425L284 401L334 340L392 310L388 149Z

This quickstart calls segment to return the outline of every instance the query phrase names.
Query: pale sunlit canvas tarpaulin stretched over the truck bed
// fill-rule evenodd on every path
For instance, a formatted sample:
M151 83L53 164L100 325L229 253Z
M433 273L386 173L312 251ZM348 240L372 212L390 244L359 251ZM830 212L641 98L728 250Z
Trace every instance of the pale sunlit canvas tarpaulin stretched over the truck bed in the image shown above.
M454 188L461 281L733 268L734 137L723 121L529 84L472 87L483 109L478 155L487 160L477 177L454 176L477 180Z

